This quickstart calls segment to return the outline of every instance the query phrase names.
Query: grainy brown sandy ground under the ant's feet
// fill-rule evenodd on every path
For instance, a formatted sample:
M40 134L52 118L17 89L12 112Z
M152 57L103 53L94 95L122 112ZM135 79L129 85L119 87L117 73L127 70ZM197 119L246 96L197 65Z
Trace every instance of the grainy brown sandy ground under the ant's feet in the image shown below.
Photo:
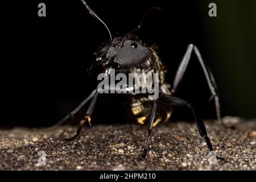
M145 126L84 126L81 136L67 142L76 126L57 129L16 127L0 130L0 169L3 170L256 170L256 121L224 129L216 121L205 122L217 155L226 162L208 162L209 151L200 143L196 123L170 122L154 128L146 160ZM39 151L46 164L39 164ZM41 162L43 160L40 160Z

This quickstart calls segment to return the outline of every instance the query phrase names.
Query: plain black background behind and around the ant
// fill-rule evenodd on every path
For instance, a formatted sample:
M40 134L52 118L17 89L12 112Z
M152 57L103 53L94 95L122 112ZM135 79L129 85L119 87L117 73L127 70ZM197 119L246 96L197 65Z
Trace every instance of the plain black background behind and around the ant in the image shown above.
M46 3L46 17L38 3ZM217 17L208 16L211 1L88 1L113 36L123 36L152 6L138 35L159 45L159 56L172 83L189 43L212 68L223 115L255 117L255 1L215 1ZM52 125L95 87L86 73L94 51L109 39L105 27L79 0L1 2L2 126ZM215 118L214 102L200 64L192 56L177 94L194 102L203 118ZM125 122L118 97L101 96L94 123ZM76 115L81 117L83 110ZM173 120L193 120L176 108Z

